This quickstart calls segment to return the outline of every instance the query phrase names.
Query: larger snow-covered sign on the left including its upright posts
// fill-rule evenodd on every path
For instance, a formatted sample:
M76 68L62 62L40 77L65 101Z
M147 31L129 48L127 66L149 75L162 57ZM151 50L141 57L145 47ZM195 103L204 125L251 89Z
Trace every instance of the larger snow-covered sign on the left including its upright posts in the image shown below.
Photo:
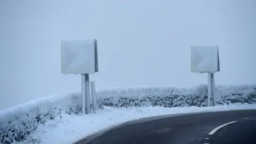
M98 72L96 39L70 39L61 41L61 73L82 75L82 113L90 113L89 74Z

